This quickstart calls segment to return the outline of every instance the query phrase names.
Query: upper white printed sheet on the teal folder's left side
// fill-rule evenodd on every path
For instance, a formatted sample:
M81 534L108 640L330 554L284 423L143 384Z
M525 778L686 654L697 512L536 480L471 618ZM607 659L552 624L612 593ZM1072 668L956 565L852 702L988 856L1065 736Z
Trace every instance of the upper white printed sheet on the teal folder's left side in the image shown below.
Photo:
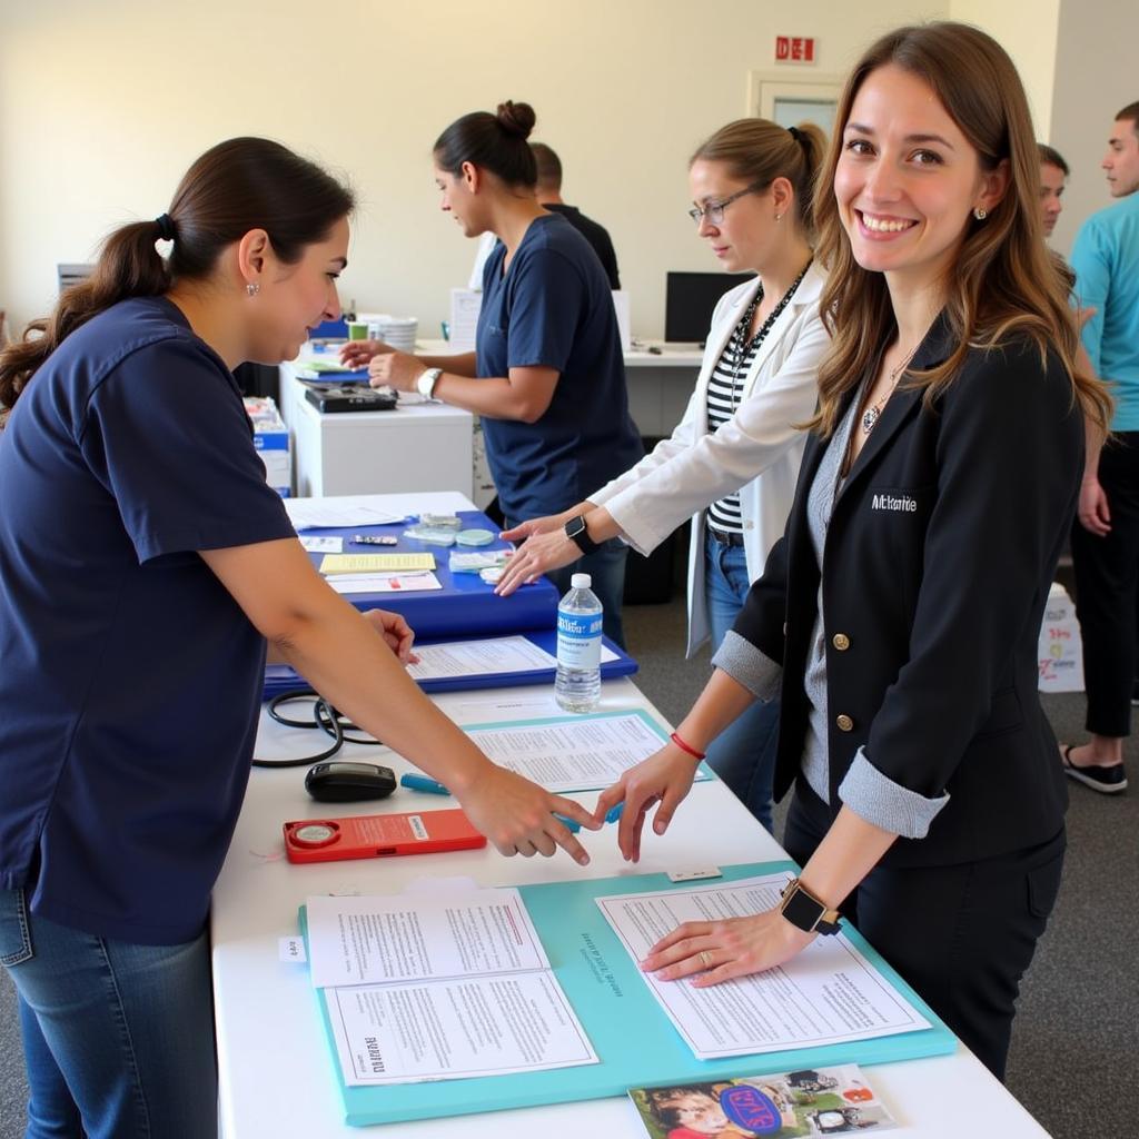
M550 967L517 890L321 895L305 907L317 989Z

